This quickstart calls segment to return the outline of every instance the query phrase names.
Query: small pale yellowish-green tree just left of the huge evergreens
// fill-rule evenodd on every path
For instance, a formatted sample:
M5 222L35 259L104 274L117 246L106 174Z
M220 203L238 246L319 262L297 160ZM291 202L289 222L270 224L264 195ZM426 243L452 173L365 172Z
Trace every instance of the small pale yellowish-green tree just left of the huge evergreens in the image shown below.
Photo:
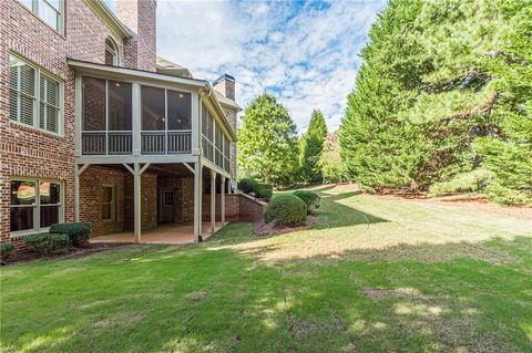
M321 172L324 183L341 183L347 179L338 147L337 133L327 135L317 165Z

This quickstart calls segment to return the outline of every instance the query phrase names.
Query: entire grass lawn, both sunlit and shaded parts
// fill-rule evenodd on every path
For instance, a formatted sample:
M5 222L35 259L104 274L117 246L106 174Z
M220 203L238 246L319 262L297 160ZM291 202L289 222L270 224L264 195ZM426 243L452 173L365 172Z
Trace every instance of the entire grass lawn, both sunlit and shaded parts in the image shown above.
M532 219L319 191L311 230L3 268L1 350L532 351Z

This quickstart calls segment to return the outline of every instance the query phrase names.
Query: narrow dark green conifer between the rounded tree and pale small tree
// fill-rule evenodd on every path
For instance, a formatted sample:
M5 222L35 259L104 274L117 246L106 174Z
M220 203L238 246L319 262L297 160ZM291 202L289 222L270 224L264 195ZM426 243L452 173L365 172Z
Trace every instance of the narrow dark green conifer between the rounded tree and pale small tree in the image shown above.
M318 166L318 158L324 148L324 141L327 136L327 125L324 114L314 110L308 124L307 133L301 137L299 165L301 177L307 183L321 181L321 172Z

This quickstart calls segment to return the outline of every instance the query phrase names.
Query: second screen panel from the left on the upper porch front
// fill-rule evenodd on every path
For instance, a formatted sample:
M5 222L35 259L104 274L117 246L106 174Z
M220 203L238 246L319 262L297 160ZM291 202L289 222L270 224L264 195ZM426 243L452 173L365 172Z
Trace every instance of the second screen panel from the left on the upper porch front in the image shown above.
M120 81L108 82L109 154L124 155L133 150L132 85Z

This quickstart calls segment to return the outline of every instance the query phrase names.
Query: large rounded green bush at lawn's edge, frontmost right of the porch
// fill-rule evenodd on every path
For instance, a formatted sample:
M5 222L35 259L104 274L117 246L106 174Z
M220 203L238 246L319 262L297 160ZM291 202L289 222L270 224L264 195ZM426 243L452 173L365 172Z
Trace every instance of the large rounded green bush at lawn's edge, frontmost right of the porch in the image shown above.
M289 194L277 195L266 208L266 222L284 226L298 226L307 220L305 203Z

